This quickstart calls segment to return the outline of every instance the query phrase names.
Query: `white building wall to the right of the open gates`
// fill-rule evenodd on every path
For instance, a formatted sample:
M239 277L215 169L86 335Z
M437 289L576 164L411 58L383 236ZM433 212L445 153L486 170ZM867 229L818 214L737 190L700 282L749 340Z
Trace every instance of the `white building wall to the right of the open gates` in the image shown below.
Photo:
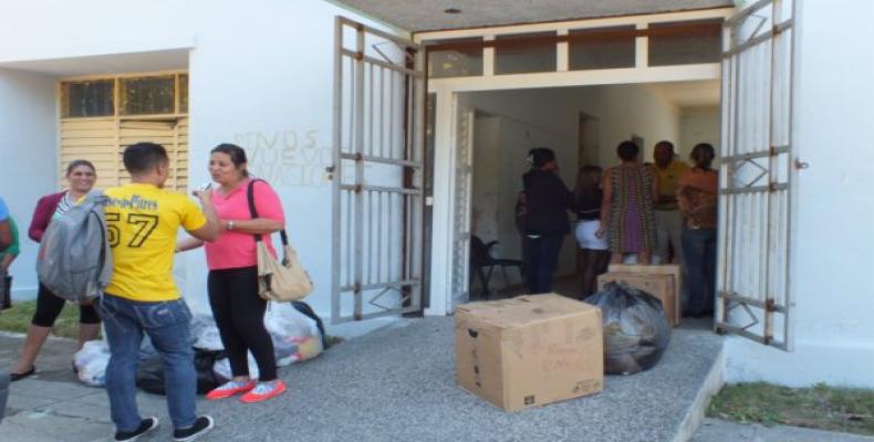
M727 379L872 388L874 4L799 6L793 135L797 156L810 168L799 173L792 220L795 346L783 352L731 338Z

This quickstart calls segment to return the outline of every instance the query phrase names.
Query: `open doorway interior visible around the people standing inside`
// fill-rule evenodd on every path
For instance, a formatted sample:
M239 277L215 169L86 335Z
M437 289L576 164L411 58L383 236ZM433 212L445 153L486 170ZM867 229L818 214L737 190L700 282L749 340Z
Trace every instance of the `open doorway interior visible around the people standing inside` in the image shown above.
M523 262L516 204L531 148L553 149L558 175L573 190L581 167L607 169L617 164L615 148L621 141L643 140L643 159L651 161L653 145L670 140L678 159L687 161L695 144L718 148L720 138L717 81L468 92L460 93L459 101L475 115L466 211L470 251L456 253L456 260L464 261L454 265L468 267L461 274L469 276L471 299L526 292L516 265ZM573 230L575 217L568 217ZM477 248L483 245L487 257L497 263L482 262L483 250ZM555 292L580 293L578 250L573 234L565 235Z

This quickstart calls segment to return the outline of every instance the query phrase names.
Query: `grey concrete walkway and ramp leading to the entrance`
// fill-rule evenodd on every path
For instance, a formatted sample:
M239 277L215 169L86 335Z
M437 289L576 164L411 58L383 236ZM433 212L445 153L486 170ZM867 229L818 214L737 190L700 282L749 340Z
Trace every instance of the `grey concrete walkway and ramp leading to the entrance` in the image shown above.
M451 326L451 318L416 319L346 341L282 369L290 393L267 403L200 400L200 411L217 420L207 440L675 441L688 431L722 348L706 329L676 329L653 370L608 377L599 396L506 413L456 387ZM20 337L0 337L0 369L20 345ZM105 391L80 385L71 358L72 343L49 343L38 376L13 383L0 440L107 440ZM167 440L164 398L141 393L139 403L144 415L163 421L144 440Z

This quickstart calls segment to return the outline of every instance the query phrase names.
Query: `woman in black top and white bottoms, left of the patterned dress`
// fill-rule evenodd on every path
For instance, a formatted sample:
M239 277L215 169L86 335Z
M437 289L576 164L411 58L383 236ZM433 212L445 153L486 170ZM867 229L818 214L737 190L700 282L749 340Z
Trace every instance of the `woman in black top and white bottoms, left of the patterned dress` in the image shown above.
M576 242L580 244L580 299L586 298L597 290L597 276L607 271L610 252L607 242L597 238L601 228L601 204L604 190L601 189L603 169L585 166L576 175L574 188L574 212L576 213Z

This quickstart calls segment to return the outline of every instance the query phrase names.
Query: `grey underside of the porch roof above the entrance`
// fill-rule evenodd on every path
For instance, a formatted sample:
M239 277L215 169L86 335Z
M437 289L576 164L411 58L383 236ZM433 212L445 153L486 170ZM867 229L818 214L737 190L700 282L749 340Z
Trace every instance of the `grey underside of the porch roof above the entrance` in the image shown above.
M337 0L410 32L733 7L733 0ZM447 10L459 13L447 13Z

